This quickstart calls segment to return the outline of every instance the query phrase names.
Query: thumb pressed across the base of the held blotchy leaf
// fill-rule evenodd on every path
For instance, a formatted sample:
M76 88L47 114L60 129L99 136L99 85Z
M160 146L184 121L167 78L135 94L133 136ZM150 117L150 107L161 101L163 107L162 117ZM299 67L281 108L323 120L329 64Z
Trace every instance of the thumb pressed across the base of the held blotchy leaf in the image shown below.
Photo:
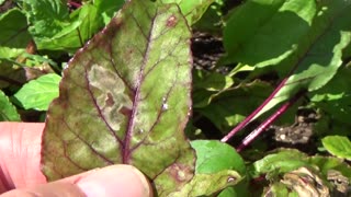
M10 190L0 196L149 197L151 189L146 177L134 166L112 165L31 188Z

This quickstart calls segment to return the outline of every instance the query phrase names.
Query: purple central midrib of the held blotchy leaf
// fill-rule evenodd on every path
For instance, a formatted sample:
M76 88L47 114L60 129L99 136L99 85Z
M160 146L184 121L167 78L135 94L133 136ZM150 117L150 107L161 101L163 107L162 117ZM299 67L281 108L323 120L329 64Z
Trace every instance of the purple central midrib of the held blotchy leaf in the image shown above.
M138 107L138 100L139 100L139 94L140 94L140 85L141 85L141 81L143 81L143 76L144 76L144 69L147 65L147 58L149 56L149 50L150 50L150 45L151 45L151 36L152 36L152 30L154 30L154 25L155 25L155 19L158 15L158 10L156 10L155 16L151 18L151 25L150 25L150 30L149 30L149 35L146 38L147 39L147 46L145 49L145 56L143 58L143 65L140 67L140 71L139 71L139 76L137 78L137 83L136 83L136 91L134 94L134 101L133 101L133 106L132 106L132 113L129 116L129 121L127 124L127 129L126 129L126 134L125 134L125 138L124 138L124 146L122 147L122 162L124 164L128 164L129 163L129 159L131 159L131 151L129 151L129 146L131 146L131 138L132 138L132 132L135 126L135 116L137 113L137 107Z

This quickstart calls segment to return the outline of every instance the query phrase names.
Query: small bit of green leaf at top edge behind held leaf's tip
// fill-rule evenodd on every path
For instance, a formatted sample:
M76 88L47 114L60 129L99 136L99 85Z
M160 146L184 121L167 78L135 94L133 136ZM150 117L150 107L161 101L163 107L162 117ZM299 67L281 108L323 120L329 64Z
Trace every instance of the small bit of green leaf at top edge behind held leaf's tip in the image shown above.
M185 15L188 24L192 25L201 19L215 0L161 0L163 3L177 3Z

